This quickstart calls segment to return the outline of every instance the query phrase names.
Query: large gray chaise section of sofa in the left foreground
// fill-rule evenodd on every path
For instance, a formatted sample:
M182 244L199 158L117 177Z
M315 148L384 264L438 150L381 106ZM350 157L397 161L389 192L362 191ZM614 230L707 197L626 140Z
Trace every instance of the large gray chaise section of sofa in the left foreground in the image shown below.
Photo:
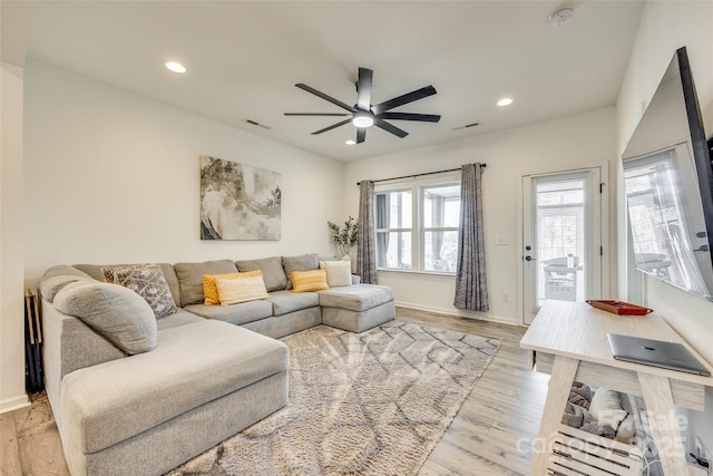
M70 469L167 472L286 405L287 367L282 342L203 320L162 331L152 352L71 372L61 385Z

